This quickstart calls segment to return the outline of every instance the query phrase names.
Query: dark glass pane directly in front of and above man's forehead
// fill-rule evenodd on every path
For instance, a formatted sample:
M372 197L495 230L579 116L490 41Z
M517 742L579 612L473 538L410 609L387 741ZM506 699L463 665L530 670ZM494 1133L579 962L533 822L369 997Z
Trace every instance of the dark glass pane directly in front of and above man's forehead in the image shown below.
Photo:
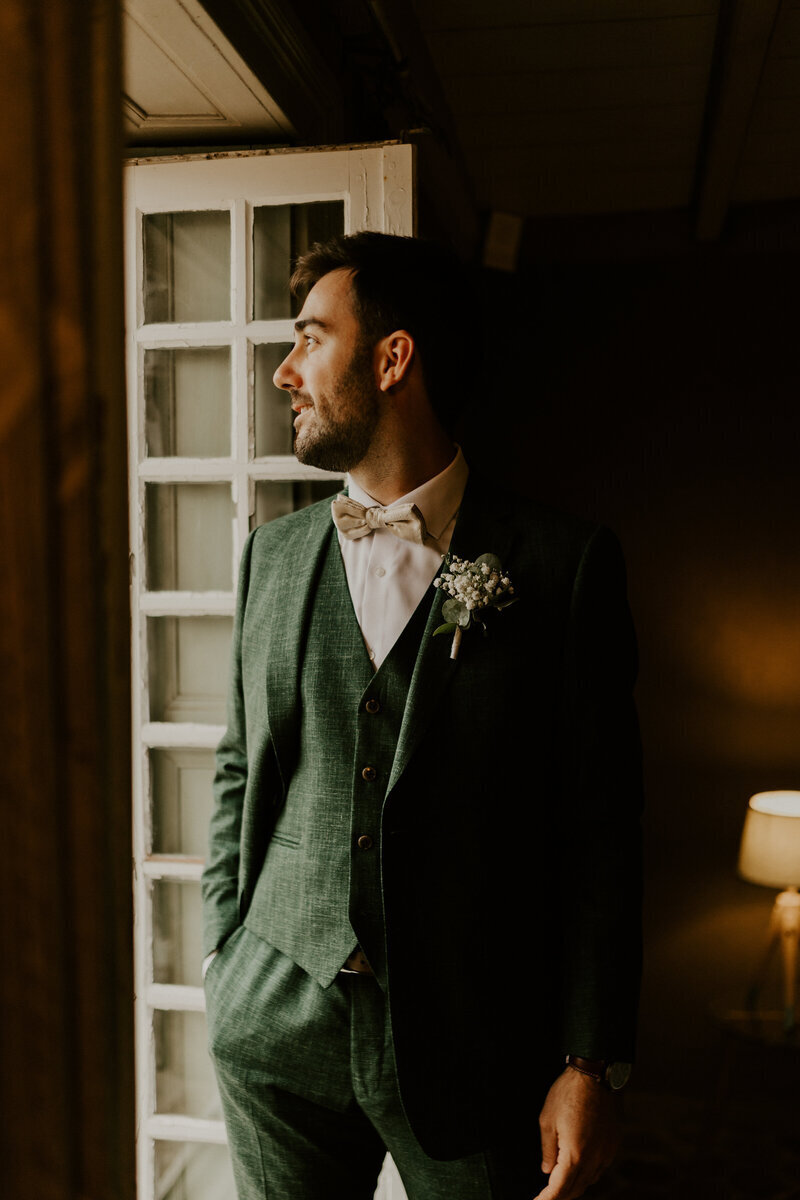
M289 292L295 259L315 241L326 241L339 233L344 233L344 200L253 209L255 320L281 320L300 312L302 298Z

